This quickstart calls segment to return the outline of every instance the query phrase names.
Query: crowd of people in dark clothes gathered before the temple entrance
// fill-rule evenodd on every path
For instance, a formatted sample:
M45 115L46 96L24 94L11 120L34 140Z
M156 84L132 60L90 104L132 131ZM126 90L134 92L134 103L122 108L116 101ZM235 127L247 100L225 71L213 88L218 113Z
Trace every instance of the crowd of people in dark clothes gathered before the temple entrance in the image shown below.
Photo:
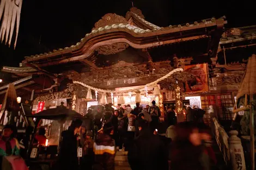
M69 133L63 133L59 169L113 170L117 150L127 152L132 170L210 170L216 165L210 129L203 123L204 112L198 108L188 108L186 116L190 117L181 123L177 123L171 106L167 107L164 121L160 121L161 111L155 101L145 108L137 103L134 109L129 104L118 104L114 110L109 104L102 116L100 110L88 110L86 115L87 132L79 163L76 134L82 121L74 121Z

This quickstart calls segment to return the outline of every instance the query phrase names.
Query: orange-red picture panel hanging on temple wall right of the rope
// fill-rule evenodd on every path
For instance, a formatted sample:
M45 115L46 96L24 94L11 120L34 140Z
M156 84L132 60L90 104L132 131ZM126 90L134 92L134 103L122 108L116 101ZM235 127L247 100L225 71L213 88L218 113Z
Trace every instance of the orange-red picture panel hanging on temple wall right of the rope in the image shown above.
M192 74L193 78L186 82L187 93L200 93L209 91L208 66L207 64L197 64L185 66L185 72Z

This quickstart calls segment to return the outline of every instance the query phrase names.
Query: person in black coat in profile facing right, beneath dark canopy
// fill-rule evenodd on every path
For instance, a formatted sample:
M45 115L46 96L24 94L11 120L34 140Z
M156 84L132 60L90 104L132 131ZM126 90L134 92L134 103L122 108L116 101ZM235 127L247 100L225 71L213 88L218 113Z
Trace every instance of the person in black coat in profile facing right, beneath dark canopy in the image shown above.
M77 170L77 133L81 130L82 121L72 121L68 130L62 132L62 142L58 157L59 170Z

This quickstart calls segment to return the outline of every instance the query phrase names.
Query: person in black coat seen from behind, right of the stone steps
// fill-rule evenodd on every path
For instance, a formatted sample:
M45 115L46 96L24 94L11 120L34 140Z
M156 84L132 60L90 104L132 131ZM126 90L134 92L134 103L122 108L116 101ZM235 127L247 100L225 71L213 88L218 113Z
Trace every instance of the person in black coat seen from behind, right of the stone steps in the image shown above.
M151 133L148 122L138 122L139 136L133 141L128 152L128 161L132 170L167 170L168 156L159 136Z

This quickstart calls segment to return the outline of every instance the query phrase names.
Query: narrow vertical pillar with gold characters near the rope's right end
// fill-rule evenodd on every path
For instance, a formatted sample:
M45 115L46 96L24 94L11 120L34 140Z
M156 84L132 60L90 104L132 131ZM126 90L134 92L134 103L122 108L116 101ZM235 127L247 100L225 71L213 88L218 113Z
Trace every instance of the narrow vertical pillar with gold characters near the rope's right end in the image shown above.
M178 81L176 81L175 83L175 109L176 109L176 113L177 113L177 121L179 122L184 122L184 114L183 114L183 104L182 104L182 90L181 87L178 83Z

